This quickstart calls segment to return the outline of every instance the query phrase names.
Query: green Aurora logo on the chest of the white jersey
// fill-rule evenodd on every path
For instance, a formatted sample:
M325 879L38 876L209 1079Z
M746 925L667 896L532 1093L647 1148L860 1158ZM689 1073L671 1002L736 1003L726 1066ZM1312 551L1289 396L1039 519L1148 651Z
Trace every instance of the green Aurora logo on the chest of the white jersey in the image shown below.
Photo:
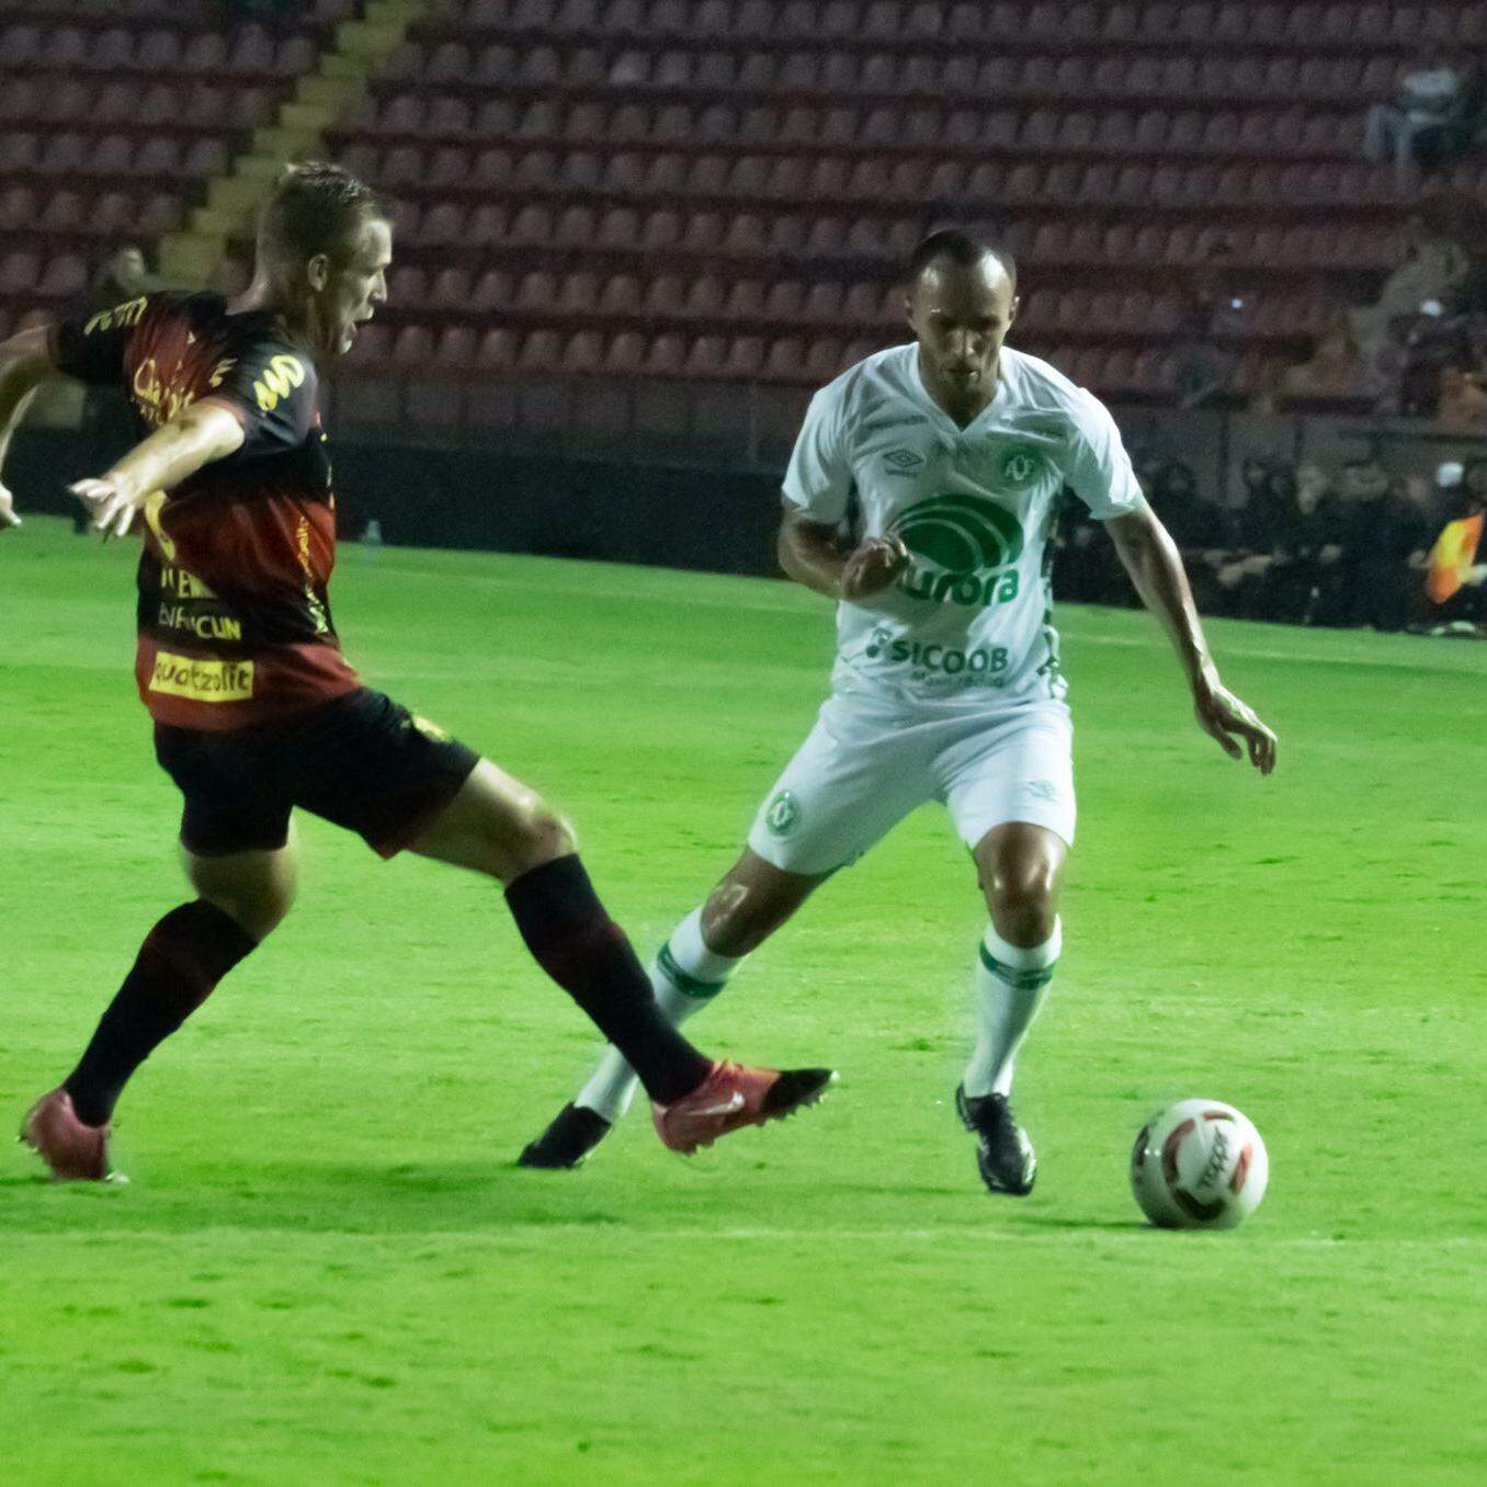
M1023 529L984 495L931 495L900 512L889 528L912 555L898 580L910 598L987 608L1017 598Z

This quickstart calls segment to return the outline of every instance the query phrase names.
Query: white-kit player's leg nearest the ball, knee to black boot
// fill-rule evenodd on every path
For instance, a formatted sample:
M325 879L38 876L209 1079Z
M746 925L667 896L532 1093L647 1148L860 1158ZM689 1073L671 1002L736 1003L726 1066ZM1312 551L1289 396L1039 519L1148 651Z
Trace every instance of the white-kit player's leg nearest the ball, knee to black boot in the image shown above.
M978 1030L956 1109L977 1138L977 1170L992 1193L1028 1194L1038 1172L1010 1094L1017 1050L1059 959L1057 910L1068 852L1057 833L1028 821L993 827L974 852L992 923L978 952Z

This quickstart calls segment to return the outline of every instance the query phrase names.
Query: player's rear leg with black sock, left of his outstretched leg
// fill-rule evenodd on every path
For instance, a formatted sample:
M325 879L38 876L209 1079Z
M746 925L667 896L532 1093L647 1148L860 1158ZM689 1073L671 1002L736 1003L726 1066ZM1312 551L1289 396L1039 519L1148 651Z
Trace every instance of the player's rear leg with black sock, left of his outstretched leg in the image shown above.
M109 1132L125 1084L217 983L274 929L294 898L294 848L198 857L199 897L150 929L82 1059L28 1111L21 1139L61 1179L104 1181Z

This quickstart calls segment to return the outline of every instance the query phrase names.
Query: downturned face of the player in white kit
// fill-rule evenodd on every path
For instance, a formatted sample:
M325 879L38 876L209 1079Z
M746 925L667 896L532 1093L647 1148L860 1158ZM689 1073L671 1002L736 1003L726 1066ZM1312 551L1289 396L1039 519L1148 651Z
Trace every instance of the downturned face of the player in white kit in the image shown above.
M995 257L931 263L909 291L909 324L929 391L956 403L989 401L1016 315L1013 281Z

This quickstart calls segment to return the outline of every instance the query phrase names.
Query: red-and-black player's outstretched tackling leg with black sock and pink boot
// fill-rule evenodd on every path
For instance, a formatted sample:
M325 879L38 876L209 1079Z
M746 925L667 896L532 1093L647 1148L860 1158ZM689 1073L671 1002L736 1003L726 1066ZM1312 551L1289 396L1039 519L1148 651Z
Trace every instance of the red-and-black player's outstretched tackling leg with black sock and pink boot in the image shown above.
M410 849L506 885L532 959L635 1069L656 1105L657 1133L672 1149L694 1151L788 1114L831 1078L824 1069L781 1075L714 1063L693 1048L657 1007L625 931L578 861L572 833L540 796L488 760Z

